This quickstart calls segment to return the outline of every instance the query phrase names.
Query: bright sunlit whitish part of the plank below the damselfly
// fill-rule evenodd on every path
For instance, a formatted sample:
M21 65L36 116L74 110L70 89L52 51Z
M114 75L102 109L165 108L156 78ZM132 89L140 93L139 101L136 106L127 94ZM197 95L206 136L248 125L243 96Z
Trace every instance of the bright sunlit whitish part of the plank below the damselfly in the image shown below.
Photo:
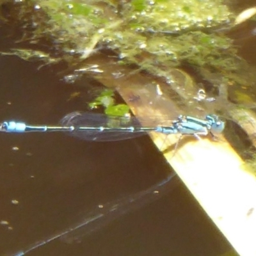
M161 150L159 134L151 137ZM190 140L163 155L239 255L256 255L256 179L225 138Z

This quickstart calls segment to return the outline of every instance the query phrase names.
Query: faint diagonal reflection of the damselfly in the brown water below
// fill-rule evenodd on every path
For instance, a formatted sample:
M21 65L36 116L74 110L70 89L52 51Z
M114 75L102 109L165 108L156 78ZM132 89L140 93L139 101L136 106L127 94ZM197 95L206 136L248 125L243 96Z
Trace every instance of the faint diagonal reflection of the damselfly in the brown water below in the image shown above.
M175 180L173 180L173 178L175 178ZM29 246L29 248L19 251L13 255L26 255L27 253L33 252L41 246L51 243L56 239L63 239L67 243L81 241L81 237L86 236L91 232L95 232L95 230L104 227L104 225L107 225L116 218L127 214L128 212L140 209L144 205L157 200L159 196L170 193L170 191L177 186L178 181L179 179L177 179L177 175L172 173L172 175L169 175L165 180L148 189L126 196L125 198L118 198L118 200L115 200L114 202L99 204L96 209L86 213L86 216L83 216L83 220L79 223L72 225L72 227L63 230L54 236L38 241L37 243Z

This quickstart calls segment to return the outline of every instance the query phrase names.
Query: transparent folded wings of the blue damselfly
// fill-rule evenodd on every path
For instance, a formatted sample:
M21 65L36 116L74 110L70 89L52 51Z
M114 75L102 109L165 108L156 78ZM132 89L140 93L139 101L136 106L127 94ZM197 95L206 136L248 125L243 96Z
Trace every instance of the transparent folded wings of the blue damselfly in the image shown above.
M75 130L70 132L70 135L88 141L127 140L147 134L147 132L143 131L143 127L157 129L156 127L159 125L173 125L173 120L168 120L167 117L163 118L163 116L144 116L138 119L134 116L108 116L76 111L64 116L61 120L61 125L74 126ZM110 127L115 128L115 131L104 129L102 131L100 129L97 131L79 131L79 127ZM129 131L129 129L122 131L122 128L125 127L134 127L136 131Z

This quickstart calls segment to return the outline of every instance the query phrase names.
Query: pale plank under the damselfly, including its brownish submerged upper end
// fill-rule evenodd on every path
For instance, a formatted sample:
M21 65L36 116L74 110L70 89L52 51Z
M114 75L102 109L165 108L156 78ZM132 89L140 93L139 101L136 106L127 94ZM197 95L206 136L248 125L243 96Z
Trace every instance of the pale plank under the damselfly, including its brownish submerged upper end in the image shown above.
M117 88L136 116L173 116L170 114L178 111L170 99L157 95L159 81L134 74L127 67L115 67L115 61L107 67L103 58L97 63L100 61L104 75L97 78L106 86ZM113 79L113 70L122 76ZM151 132L150 136L237 252L242 256L255 256L256 179L244 170L242 159L225 138L220 136L218 141L182 138L173 156L173 145L179 136L170 135L166 139L164 134L156 132Z

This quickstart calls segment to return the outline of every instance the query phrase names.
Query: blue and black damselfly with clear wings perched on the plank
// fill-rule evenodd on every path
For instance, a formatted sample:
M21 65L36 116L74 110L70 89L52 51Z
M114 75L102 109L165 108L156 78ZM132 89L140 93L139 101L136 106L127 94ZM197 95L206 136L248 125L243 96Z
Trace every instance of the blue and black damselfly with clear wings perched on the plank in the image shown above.
M60 126L27 125L22 122L3 122L0 132L70 132L70 134L90 141L127 140L146 134L149 131L163 134L197 134L220 133L225 123L216 115L207 115L204 119L180 115L170 125L143 127L136 118L124 120L122 116L106 116L74 112L66 115Z

